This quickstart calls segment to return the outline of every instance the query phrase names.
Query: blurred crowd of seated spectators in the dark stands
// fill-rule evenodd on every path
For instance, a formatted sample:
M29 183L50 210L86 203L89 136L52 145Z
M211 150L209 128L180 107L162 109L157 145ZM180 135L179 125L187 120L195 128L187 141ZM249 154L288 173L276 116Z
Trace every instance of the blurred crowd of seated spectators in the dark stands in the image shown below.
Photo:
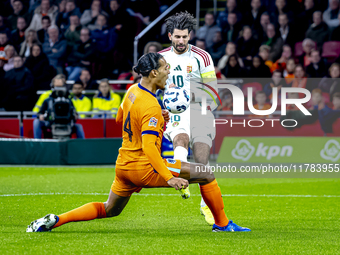
M171 4L170 0L1 1L0 108L32 110L37 90L50 90L57 74L82 90L99 89L95 97L105 94L106 100L117 100L115 90L125 90L126 85L109 84L103 93L96 80L140 79L131 71L134 37ZM323 103L337 109L339 0L227 0L223 9L204 13L204 24L190 34L190 43L212 56L219 79L252 78L257 83L252 84L255 108L270 107L273 87L280 93L282 87L292 86L321 91ZM163 22L145 38L140 54L169 45ZM257 80L262 78L267 80ZM232 101L223 93L218 110L230 110Z

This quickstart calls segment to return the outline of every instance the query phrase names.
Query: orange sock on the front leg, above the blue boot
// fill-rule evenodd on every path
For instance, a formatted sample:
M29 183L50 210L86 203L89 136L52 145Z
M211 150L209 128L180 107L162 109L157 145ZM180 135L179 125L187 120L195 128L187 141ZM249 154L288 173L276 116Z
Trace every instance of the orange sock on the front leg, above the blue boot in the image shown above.
M229 220L223 210L224 204L222 194L217 181L213 180L206 185L200 185L200 190L205 203L214 216L215 224L219 227L228 225Z

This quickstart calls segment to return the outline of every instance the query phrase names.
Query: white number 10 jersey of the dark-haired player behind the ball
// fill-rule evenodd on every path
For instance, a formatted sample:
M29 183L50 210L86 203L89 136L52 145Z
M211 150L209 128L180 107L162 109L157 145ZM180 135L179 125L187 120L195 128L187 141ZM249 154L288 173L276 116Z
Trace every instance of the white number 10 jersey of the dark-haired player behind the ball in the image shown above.
M169 64L170 74L166 81L165 91L174 83L180 88L190 91L190 79L216 79L214 63L208 52L189 44L189 49L183 54L176 54L173 47L159 52Z

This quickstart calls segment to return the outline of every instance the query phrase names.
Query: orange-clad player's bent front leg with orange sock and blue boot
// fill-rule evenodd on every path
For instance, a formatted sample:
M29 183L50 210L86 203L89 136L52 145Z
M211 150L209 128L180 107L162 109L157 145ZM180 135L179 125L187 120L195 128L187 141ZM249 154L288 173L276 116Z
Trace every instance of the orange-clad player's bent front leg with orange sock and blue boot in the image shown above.
M208 171L207 171L208 170ZM215 224L213 232L248 232L249 228L243 228L229 220L224 212L224 203L221 190L215 176L209 168L202 164L182 163L179 177L189 180L190 183L199 183L201 195L214 216Z

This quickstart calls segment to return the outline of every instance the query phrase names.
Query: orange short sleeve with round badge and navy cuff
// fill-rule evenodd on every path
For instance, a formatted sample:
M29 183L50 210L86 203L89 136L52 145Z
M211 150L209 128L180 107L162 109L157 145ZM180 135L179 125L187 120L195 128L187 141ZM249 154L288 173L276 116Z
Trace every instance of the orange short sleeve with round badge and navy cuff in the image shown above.
M142 135L151 134L158 137L162 118L161 107L154 106L148 108L142 117Z

